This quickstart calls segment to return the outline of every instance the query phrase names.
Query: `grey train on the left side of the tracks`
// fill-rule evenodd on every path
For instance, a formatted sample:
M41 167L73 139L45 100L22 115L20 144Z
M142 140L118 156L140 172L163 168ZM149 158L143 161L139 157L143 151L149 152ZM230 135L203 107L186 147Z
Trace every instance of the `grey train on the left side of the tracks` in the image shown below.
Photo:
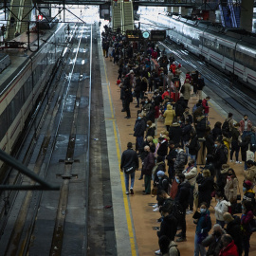
M0 148L8 154L11 154L38 97L46 88L55 64L63 54L66 40L64 28L64 24L58 24L48 30L41 37L44 43L38 51L27 51L24 55L18 51L1 74ZM25 34L24 38L27 38ZM10 55L13 49L11 51Z

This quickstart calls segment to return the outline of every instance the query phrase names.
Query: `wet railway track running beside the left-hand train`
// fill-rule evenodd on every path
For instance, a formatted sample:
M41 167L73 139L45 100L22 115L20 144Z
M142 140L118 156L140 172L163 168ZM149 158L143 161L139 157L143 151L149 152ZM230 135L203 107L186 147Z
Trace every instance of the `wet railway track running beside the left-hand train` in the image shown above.
M77 137L79 124L85 124L85 121L78 119L79 111L82 108L87 108L88 112L84 113L86 116L89 111L91 82L86 82L87 86L82 86L84 80L87 79L90 71L90 61L85 63L85 60L91 60L91 51L89 51L90 44L88 39L91 39L91 28L88 26L74 27L78 30L74 36L70 38L72 45L70 45L69 57L64 63L63 72L60 75L60 81L54 91L54 94L48 99L45 111L38 128L38 137L33 137L33 142L30 142L27 152L30 152L29 160L30 169L33 169L35 174L39 174L49 182L56 182L61 184L61 192L18 192L13 196L12 207L8 210L5 226L2 225L2 237L0 240L1 251L5 251L3 255L38 255L36 246L42 237L38 236L39 230L41 234L47 233L46 240L48 243L44 247L45 251L41 251L40 255L61 255L64 241L64 225L66 222L67 201L69 195L70 180L78 178L80 174L73 174L73 166L80 160L75 159L76 150L75 143L82 137ZM82 64L83 60L83 64ZM61 86L60 86L61 85ZM43 121L44 119L44 121ZM86 120L89 120L86 118ZM84 125L85 126L85 125ZM90 134L90 121L86 122L86 135ZM84 135L83 137L86 137ZM88 146L84 139L83 146ZM86 145L85 145L86 144ZM56 152L64 155L62 159L56 162ZM89 150L87 149L87 152ZM57 154L58 155L58 154ZM58 156L57 156L58 157ZM86 160L85 160L86 161ZM58 165L60 172L63 174L52 174L52 164ZM62 168L62 169L61 169ZM54 169L54 167L53 167ZM82 177L82 174L81 174ZM17 179L14 179L17 180ZM20 178L20 183L31 184L27 178ZM82 182L84 180L82 179ZM84 186L86 187L86 186ZM46 202L46 197L54 198L52 202ZM14 200L17 199L17 200ZM22 203L21 203L22 202ZM21 208L20 208L21 207ZM50 225L44 227L39 221L42 219L42 213L50 211ZM84 210L85 211L85 210ZM15 220L10 225L10 220ZM10 229L11 228L11 229ZM48 229L42 231L42 229ZM45 238L44 238L45 239ZM43 240L44 240L43 239ZM50 241L50 242L49 242ZM84 242L82 242L84 246ZM83 250L86 247L83 247ZM35 254L34 254L35 253Z

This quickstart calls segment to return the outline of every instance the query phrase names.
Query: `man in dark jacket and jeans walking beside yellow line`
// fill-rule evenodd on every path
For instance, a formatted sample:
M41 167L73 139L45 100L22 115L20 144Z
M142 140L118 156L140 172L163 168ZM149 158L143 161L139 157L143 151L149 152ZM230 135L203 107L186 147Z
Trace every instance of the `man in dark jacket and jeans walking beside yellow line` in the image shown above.
M132 142L127 143L127 150L121 155L120 170L125 174L126 194L129 194L129 177L131 176L130 192L134 194L135 172L138 169L137 153L133 150Z

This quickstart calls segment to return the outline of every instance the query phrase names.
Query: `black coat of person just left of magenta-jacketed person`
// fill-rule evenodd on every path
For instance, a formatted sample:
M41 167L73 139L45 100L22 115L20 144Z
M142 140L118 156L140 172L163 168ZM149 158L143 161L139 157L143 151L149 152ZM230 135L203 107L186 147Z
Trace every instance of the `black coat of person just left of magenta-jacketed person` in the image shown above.
M227 224L226 231L232 237L232 239L234 240L234 244L238 248L238 251L241 253L240 255L242 255L243 247L241 239L242 231L240 227L241 220L240 217L236 215L234 215L233 218L234 220L230 221Z

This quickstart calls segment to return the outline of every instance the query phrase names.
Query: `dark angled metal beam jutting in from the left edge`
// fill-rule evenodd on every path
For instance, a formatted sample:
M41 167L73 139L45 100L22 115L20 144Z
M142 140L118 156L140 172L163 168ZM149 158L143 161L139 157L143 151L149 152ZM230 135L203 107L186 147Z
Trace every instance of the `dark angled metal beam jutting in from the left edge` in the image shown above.
M8 163L11 167L16 169L22 174L25 174L27 177L31 178L32 180L38 182L41 186L16 186L16 185L0 185L0 190L46 190L46 191L58 191L60 190L60 186L52 185L46 182L45 179L41 178L39 175L34 174L30 171L27 166L23 165L14 157L8 155L6 152L0 150L0 159L5 163Z

